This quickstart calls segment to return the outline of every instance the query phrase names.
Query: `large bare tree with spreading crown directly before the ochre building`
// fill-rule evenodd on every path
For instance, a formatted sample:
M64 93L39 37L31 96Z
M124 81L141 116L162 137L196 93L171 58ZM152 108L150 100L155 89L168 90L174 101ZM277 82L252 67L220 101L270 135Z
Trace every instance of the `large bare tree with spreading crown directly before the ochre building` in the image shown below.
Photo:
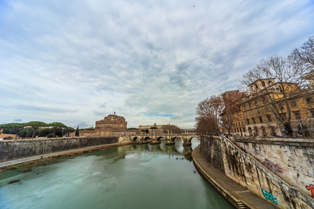
M260 63L244 74L243 79L240 80L242 84L248 85L257 79L276 79L276 83L268 88L264 88L262 93L266 95L276 122L278 125L285 127L290 136L293 132L290 100L304 93L300 86L304 86L305 80L301 79L301 76L308 72L305 68L299 68L298 66L294 65L290 59L274 55L268 59L262 59Z

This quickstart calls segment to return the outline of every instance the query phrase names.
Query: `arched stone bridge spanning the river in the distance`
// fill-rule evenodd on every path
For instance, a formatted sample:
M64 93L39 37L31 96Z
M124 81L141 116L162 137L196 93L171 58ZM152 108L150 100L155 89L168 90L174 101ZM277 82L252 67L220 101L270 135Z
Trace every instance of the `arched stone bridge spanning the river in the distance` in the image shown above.
M165 140L166 145L174 144L175 139L181 139L184 146L190 146L191 140L197 137L195 134L138 134L126 135L120 137L119 141L134 141L137 144L160 144L160 141Z

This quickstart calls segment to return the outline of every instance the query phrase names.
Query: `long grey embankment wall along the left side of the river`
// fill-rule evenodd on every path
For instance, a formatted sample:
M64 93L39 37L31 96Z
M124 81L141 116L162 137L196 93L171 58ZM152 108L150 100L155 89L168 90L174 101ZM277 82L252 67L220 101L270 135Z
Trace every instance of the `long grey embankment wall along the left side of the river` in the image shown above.
M118 142L119 137L73 137L0 141L0 162L20 157L29 157L31 155L42 155L45 153Z

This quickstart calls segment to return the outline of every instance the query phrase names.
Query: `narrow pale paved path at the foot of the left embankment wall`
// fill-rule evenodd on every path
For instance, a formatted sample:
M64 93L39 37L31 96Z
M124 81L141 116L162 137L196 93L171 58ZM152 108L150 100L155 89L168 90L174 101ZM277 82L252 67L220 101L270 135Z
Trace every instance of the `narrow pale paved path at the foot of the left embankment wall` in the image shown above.
M73 153L73 152L77 152L77 151L96 149L96 148L105 147L105 146L122 146L122 145L126 145L126 144L129 144L129 143L126 142L126 143L116 143L116 144L102 144L102 145L98 145L98 146L89 146L89 147L78 148L78 149L73 149L73 150L65 150L65 151L61 151L61 152L57 152L57 153L47 153L47 154L43 154L43 155L23 157L23 158L19 158L17 160L8 160L5 162L0 162L0 168L1 167L8 167L8 166L11 166L14 164L30 162L33 160L40 160L41 156L43 156L43 158L45 158L45 157L51 157L51 156L55 156L55 155L63 155L63 154L67 154L67 153Z

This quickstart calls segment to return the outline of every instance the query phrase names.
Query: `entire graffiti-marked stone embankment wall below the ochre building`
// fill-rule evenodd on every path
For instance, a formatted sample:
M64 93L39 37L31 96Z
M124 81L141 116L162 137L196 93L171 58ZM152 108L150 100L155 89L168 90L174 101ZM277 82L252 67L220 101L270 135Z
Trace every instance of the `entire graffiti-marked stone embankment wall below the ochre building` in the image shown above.
M201 137L202 155L226 176L280 208L314 208L314 196L311 193L314 192L311 189L314 184L313 142L309 142L313 139L308 139L309 143L299 141L299 144L292 143L291 139L276 139L278 143L272 141L267 146L262 143L262 139L260 143L251 142L251 145L248 141L239 140L234 139L234 143L239 144L236 145L225 137ZM253 153L255 151L256 153ZM274 162L275 160L293 162L294 165L291 164L290 169L283 169L281 164ZM301 168L304 170L299 170ZM298 169L302 174L299 174L299 177L294 175L294 169ZM284 180L282 176L288 172L291 178L299 180ZM288 179L288 176L285 178ZM297 182L303 182L305 185L296 185ZM303 186L305 189L302 189Z

